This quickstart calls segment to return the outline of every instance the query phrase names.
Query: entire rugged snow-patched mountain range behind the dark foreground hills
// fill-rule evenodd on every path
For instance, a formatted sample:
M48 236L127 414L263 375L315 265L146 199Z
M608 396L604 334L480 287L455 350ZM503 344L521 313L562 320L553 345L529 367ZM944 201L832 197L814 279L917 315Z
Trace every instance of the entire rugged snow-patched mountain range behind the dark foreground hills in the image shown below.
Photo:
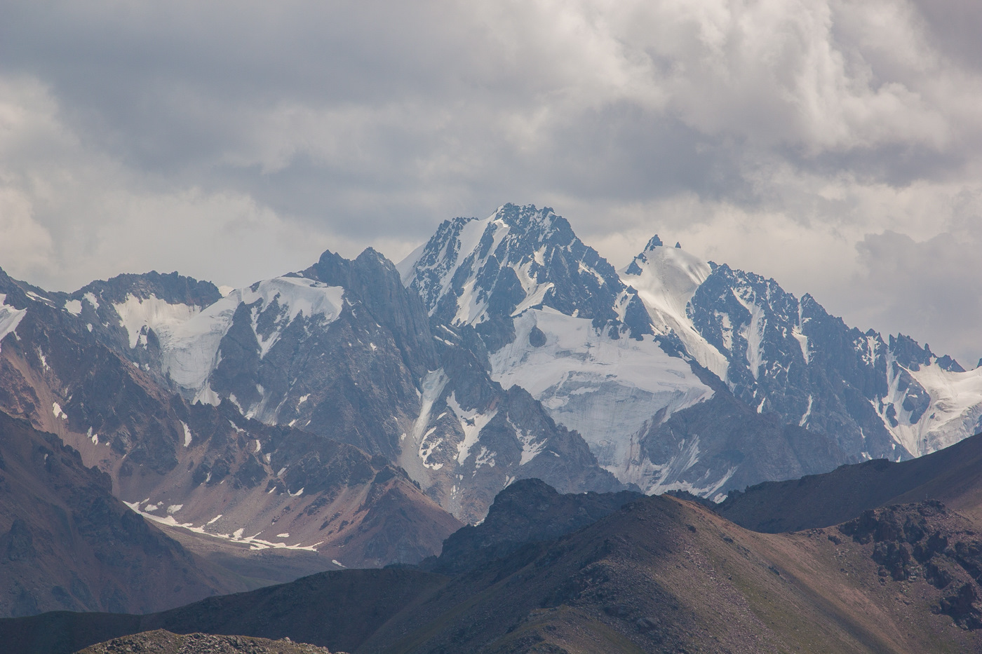
M552 209L506 204L398 264L328 251L243 289L151 272L61 293L0 271L0 411L0 436L94 468L221 580L197 555L418 564L521 479L720 502L907 462L982 429L982 368L657 236L617 270ZM5 502L22 542L33 510ZM68 568L11 614L149 607L59 604Z

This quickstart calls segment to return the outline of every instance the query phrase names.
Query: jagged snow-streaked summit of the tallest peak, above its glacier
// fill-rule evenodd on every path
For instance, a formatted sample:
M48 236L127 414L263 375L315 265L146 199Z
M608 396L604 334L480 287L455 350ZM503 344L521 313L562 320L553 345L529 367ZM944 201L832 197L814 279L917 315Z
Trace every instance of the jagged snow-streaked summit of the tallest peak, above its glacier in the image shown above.
M639 301L633 311L618 308L627 289L614 267L548 207L504 204L483 220L446 221L399 269L430 315L453 324L549 307L600 322L621 319L635 336L651 333L646 318L631 322L643 313Z

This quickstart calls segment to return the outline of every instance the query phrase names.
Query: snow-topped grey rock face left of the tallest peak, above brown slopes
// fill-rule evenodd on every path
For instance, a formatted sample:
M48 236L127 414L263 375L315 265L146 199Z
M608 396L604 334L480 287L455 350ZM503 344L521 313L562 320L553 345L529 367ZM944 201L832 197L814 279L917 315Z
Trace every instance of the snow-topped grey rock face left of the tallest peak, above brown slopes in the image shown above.
M409 329L408 294L377 254L345 261L344 274L329 270L331 257L340 259L325 254L309 276L257 282L202 307L141 297L142 280L128 280L132 289L110 305L116 331L129 336L117 351L191 402L229 400L247 417L394 459L401 423L417 412L409 366L427 369L432 346ZM365 410L380 406L389 410Z

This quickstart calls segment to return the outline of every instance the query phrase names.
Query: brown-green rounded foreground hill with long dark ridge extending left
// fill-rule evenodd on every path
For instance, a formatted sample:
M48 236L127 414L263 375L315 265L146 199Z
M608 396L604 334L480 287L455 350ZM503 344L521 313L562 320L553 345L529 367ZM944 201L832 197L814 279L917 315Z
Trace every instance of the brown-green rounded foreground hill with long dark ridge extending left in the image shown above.
M560 509L545 512L547 522L562 522L557 516L583 497L550 501L545 488L526 485L530 498ZM535 505L515 490L499 499L503 516ZM506 510L511 503L518 511ZM502 556L469 540L462 551L481 560L456 576L324 572L146 616L0 621L0 642L12 653L68 654L162 628L289 636L355 654L979 651L978 532L937 501L878 509L829 529L766 534L695 503L642 497Z

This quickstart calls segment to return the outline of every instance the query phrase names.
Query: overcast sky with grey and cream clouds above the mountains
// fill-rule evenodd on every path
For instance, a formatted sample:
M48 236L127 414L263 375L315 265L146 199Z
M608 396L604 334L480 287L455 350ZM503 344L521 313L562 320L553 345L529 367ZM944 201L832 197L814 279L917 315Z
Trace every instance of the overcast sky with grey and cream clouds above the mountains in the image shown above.
M0 266L241 286L553 207L982 356L976 0L0 0Z

